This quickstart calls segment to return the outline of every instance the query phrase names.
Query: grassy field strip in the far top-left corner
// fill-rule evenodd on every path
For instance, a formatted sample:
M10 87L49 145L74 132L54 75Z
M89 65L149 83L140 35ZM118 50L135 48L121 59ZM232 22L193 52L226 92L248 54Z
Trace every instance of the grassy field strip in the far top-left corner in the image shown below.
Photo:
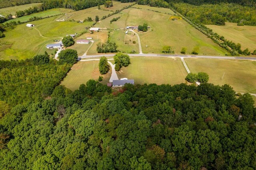
M7 16L8 14L15 15L17 11L24 11L28 8L32 8L33 6L39 6L42 3L32 3L32 4L25 4L25 5L19 5L19 6L11 6L8 8L0 8L0 15Z

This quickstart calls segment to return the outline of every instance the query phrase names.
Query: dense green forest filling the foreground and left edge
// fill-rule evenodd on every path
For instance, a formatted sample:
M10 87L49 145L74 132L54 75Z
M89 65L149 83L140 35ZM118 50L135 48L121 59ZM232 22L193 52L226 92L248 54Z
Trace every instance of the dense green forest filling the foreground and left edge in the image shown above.
M112 90L94 80L52 89L70 66L46 58L1 67L0 169L256 168L249 94L208 83Z

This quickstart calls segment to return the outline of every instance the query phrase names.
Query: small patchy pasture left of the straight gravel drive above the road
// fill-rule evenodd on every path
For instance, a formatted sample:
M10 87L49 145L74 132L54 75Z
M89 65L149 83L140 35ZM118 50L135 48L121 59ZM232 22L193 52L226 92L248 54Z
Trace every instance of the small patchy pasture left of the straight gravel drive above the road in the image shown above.
M134 36L134 33L128 32L125 34L126 30L116 30L111 33L110 42L115 42L118 45L118 50L123 53L130 53L135 51L139 53L138 38ZM136 42L135 44L133 42Z

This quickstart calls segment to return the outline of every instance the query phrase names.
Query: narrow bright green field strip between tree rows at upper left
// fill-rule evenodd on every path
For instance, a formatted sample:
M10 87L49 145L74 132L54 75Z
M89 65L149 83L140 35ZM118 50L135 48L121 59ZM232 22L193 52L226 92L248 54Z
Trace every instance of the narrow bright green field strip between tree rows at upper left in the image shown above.
M15 18L13 20L8 20L4 23L7 23L7 22L11 22L11 21L20 21L20 22L25 22L25 21L28 21L29 18L33 18L34 16L35 17L47 17L47 16L55 16L55 15L58 15L58 14L64 14L64 13L68 13L68 12L72 12L73 10L70 10L70 9L65 9L65 8L57 8L57 9L51 9L51 10L46 10L46 11L42 11L42 12L38 12L38 13L34 13L34 14L31 14L31 15L27 15L27 16L22 16L20 18Z

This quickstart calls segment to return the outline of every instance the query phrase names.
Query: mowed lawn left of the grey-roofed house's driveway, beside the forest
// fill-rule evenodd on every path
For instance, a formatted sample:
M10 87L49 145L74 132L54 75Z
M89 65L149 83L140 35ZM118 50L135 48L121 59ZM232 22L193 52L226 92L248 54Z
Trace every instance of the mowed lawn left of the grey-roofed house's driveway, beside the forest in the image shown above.
M86 84L90 79L98 81L98 78L101 75L98 65L99 61L79 61L73 65L67 76L61 82L61 85L64 85L68 89L74 91L79 89L81 84ZM102 76L103 81L101 83L108 83L111 76L111 67L110 71Z

